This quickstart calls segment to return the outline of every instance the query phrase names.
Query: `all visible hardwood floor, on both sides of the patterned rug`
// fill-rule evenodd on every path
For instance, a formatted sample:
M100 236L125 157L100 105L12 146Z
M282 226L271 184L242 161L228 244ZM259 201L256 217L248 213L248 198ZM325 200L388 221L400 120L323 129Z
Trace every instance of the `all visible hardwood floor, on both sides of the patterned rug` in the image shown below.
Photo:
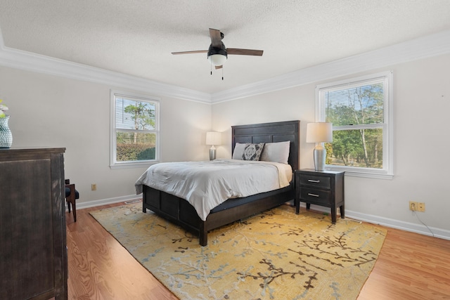
M69 299L177 299L89 211L66 213ZM387 228L359 300L450 299L450 240Z

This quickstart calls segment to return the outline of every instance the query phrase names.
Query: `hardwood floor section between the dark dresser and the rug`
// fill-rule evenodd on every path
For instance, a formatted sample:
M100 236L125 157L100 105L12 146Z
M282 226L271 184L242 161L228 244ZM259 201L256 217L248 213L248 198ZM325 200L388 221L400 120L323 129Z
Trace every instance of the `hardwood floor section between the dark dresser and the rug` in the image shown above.
M89 214L66 212L69 299L178 299Z

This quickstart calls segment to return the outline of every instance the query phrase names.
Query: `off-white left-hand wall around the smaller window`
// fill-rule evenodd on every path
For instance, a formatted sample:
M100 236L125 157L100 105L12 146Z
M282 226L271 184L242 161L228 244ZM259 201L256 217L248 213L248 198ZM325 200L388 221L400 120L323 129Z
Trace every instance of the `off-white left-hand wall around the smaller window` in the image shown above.
M146 170L110 169L110 89L123 88L0 67L0 98L9 107L13 148L63 147L65 177L84 202L114 202L135 195ZM135 91L143 93L142 91ZM211 105L158 94L163 161L208 159L205 132ZM97 190L91 191L91 183Z

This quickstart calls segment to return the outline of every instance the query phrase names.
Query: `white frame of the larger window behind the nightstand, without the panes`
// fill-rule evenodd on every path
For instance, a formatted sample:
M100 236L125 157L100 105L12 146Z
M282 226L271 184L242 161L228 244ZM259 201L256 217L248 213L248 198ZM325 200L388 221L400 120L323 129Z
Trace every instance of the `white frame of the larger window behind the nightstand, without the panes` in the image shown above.
M392 179L394 177L394 148L393 148L393 72L385 71L375 74L368 74L360 77L352 77L340 81L328 82L326 84L320 84L316 86L316 122L325 122L326 119L326 104L321 97L325 91L332 91L334 89L342 88L345 86L355 86L368 84L370 81L383 81L384 86L384 103L383 112L384 118L382 124L361 124L358 126L334 126L337 130L349 130L349 129L383 129L383 169L376 168L364 168L364 167L348 167L348 166L335 166L326 164L326 169L345 171L346 175L368 177L368 178L382 178Z

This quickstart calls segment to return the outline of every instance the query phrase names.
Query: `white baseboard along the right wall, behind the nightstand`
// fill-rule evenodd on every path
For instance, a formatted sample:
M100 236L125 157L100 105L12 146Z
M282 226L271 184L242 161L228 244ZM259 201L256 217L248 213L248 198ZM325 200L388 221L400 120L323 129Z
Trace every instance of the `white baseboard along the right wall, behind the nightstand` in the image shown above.
M300 204L300 207L306 209L306 204ZM315 211L323 211L325 213L330 213L330 209L326 207L319 207L311 204L311 209ZM338 210L339 212L339 210ZM450 240L450 230L445 230L442 228L435 228L430 226L425 226L423 224L409 223L404 221L398 221L394 219L388 219L381 216L373 216L371 214L361 214L357 211L350 211L345 209L345 217L349 219L355 219L358 221L364 221L367 223L378 224L390 228L396 228L400 230L409 231L412 233L419 233L421 235L429 235L433 237L439 237L444 240Z

